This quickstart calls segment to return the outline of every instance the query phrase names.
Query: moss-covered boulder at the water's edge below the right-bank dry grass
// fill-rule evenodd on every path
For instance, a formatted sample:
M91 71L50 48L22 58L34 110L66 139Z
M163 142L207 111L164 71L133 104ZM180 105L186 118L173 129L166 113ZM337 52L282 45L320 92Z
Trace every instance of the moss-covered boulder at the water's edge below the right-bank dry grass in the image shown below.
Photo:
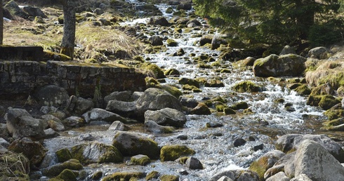
M333 95L310 95L307 100L307 105L319 106L324 110L328 110L339 103L340 100Z

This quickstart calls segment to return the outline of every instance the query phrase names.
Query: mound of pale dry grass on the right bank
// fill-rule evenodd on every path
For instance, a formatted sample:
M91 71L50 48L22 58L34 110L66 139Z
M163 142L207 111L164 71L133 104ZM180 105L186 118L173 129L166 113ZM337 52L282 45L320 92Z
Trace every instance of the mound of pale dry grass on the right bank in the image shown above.
M306 73L305 79L312 86L323 83L330 83L335 89L344 86L344 59L320 62L317 69Z

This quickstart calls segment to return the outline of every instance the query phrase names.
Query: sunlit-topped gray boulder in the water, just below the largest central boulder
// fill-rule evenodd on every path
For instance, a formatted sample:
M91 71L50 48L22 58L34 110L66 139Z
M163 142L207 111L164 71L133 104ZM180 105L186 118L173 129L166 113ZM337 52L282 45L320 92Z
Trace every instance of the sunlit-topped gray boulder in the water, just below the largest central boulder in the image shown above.
M176 109L164 108L157 111L147 110L145 112L145 122L154 121L162 126L183 127L186 116Z

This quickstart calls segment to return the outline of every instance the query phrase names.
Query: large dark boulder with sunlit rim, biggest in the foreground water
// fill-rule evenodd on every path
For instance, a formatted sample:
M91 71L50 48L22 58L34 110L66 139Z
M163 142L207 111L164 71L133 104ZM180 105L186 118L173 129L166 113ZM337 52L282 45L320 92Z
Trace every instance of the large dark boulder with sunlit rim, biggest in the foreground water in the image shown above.
M134 156L137 154L144 154L152 159L159 157L160 149L157 142L146 138L137 133L128 133L119 131L114 135L112 145L119 149L119 152L124 156Z

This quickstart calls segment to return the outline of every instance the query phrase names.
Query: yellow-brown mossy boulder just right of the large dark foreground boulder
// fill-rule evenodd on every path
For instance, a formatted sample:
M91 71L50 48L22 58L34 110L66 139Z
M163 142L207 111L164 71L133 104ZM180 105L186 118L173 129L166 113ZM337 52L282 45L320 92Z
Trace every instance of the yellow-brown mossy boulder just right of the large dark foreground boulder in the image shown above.
M193 149L185 145L168 145L161 148L161 161L175 161L181 156L188 156L195 154Z

